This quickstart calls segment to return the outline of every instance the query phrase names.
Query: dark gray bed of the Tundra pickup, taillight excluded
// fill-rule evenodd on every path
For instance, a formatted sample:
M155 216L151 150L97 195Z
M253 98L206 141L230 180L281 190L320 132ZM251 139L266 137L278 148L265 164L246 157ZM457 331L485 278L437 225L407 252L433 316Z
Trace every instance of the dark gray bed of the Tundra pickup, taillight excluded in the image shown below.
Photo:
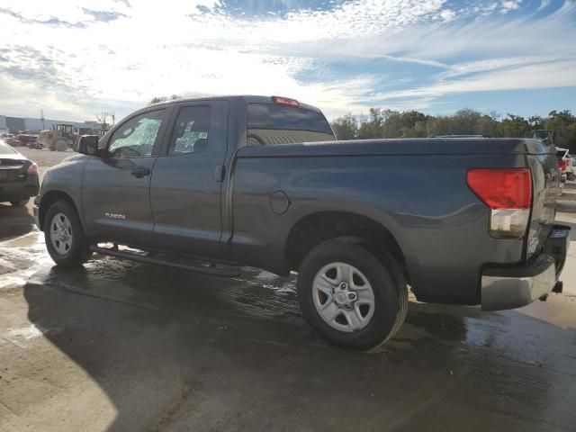
M386 227L400 245L419 300L478 304L482 267L526 261L552 229L557 179L549 150L534 139L374 139L240 148L229 203L232 254L286 273L284 245L299 220L322 212L363 214ZM466 185L466 171L515 166L530 166L534 173L529 236L492 238L489 209ZM269 212L276 192L290 202L281 217Z

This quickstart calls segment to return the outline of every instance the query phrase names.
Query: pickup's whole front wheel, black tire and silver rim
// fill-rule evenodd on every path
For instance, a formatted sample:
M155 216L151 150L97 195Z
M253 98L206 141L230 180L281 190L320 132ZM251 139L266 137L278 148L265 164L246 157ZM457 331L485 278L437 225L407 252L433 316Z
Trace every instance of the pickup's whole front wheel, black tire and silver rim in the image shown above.
M50 205L44 221L44 238L48 253L58 266L80 266L92 255L76 209L69 202Z

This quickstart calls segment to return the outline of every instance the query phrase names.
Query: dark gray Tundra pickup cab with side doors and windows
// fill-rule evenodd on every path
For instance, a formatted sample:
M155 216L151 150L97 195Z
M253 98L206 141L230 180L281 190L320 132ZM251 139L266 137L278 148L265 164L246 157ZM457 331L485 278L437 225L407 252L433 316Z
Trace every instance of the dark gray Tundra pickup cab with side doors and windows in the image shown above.
M224 180L238 148L335 139L320 110L290 101L233 96L148 106L98 139L99 157L76 159L81 193L57 170L47 184L76 197L94 240L229 259Z

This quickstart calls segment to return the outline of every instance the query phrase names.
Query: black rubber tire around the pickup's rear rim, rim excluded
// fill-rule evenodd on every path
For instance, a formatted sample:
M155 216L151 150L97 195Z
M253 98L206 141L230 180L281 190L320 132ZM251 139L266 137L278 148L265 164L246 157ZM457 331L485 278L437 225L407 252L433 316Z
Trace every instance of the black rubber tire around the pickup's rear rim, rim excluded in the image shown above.
M408 286L400 266L386 252L378 257L359 239L335 238L314 247L304 258L298 275L298 300L304 318L329 342L355 350L382 346L401 328L408 311ZM355 266L373 287L374 315L363 329L346 332L331 327L316 310L312 282L330 263Z

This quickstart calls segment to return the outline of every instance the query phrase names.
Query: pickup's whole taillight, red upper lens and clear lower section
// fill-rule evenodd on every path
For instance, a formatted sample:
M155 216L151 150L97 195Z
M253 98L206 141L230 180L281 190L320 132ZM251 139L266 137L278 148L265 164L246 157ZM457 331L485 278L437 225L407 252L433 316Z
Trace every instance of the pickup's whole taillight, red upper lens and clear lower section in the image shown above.
M466 173L466 183L491 209L492 237L524 236L532 203L528 168L473 168Z

